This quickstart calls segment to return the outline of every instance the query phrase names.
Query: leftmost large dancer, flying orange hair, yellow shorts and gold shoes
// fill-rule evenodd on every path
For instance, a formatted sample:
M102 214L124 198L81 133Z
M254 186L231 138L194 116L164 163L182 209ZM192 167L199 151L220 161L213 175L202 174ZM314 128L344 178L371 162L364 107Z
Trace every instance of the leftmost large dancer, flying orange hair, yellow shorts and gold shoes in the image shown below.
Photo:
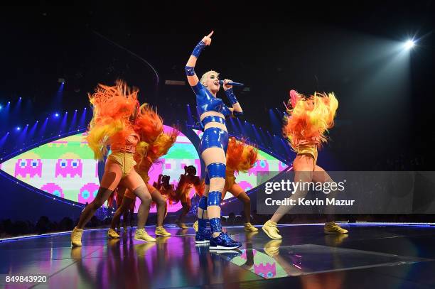
M87 142L94 151L95 159L101 160L110 146L112 154L107 158L104 167L100 189L93 200L80 215L77 227L71 233L71 244L82 246L82 232L115 188L122 182L141 200L138 211L136 240L148 241L149 235L144 229L146 217L149 214L151 195L146 189L144 180L133 169L136 164L136 151L144 156L148 144L144 141L146 128L142 126L143 119L137 100L138 89L127 87L125 82L118 80L116 85L109 87L98 84L94 94L89 94L93 107L93 117L89 125Z

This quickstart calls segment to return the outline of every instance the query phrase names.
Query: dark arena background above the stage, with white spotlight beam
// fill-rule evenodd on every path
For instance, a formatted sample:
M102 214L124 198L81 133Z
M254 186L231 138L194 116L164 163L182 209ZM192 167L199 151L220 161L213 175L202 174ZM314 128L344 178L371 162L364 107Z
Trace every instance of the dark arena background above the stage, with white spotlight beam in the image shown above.
M186 120L193 92L165 81L186 80L193 47L214 30L195 70L244 82L249 91L236 92L247 121L279 134L270 109L284 109L289 89L335 92L336 126L319 165L432 170L433 1L175 5L1 7L0 104L11 107L0 110L0 138L10 132L0 156L35 141L19 139L16 126L89 107L87 92L117 78L139 87L141 102L156 105L166 124ZM412 37L417 47L405 51ZM66 80L61 96L58 78ZM58 130L50 125L46 134Z

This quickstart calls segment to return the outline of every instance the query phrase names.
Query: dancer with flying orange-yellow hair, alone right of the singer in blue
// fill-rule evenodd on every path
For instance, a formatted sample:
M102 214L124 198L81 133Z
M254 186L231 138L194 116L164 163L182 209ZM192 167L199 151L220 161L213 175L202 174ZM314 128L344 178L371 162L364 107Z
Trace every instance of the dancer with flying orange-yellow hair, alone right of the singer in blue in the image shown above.
M283 128L284 136L289 139L291 147L296 151L293 162L294 179L299 182L332 182L331 177L323 168L316 165L318 148L326 143L326 131L334 124L335 111L338 100L333 93L314 93L306 97L295 90L290 91L286 124ZM307 191L298 190L291 199L305 197ZM330 206L332 207L332 206ZM272 239L281 239L276 223L289 212L291 206L281 205L262 227L263 231ZM326 234L346 234L347 230L333 222L333 214L327 214L324 227Z

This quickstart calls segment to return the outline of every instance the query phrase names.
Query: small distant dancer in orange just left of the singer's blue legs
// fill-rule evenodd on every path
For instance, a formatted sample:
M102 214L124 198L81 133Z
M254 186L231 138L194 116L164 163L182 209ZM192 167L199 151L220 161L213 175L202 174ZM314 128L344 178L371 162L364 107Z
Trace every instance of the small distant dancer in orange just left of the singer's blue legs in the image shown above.
M204 184L200 182L200 178L196 175L196 168L193 165L185 165L184 175L180 175L175 195L170 196L172 202L181 202L181 206L183 207L180 217L178 217L175 222L181 229L188 229L186 224L183 223L183 220L190 211L189 192L193 187L195 187L197 195L203 195Z

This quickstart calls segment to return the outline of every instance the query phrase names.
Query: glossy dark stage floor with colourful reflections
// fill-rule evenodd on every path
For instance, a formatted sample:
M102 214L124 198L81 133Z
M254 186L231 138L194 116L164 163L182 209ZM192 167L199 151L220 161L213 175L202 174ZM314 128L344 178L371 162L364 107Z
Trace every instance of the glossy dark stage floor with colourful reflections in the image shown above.
M87 230L0 242L0 288L434 288L435 226L350 224L324 235L322 224L279 227L282 240L259 228L227 227L239 251L195 246L194 231L168 226L171 237L134 241L134 229L107 239ZM154 227L147 227L154 235ZM6 283L6 276L47 276L46 283Z

